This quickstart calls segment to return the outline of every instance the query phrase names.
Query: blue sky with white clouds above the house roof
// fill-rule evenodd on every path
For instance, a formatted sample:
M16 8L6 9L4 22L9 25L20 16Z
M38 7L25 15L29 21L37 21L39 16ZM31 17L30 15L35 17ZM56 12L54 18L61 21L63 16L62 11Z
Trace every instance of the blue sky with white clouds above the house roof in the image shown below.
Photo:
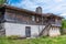
M9 4L31 11L42 7L43 13L54 13L66 19L66 0L10 0Z

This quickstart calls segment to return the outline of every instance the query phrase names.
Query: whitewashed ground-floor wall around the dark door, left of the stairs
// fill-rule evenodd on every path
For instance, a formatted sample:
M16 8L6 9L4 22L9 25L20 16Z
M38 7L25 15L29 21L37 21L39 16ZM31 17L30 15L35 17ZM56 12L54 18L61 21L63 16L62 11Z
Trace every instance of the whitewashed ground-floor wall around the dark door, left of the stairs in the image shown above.
M42 31L43 25L28 25L28 24L19 24L19 23L4 23L6 28L6 35L20 35L20 36L25 36L25 26L31 26L31 37L34 35L38 35L38 33Z

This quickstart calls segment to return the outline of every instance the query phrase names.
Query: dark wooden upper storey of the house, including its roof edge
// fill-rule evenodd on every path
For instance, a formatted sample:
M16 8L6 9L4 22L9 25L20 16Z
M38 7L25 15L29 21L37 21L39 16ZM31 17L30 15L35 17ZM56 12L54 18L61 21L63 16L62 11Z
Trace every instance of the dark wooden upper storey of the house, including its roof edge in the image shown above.
M40 11L40 10L38 10ZM19 9L10 6L0 8L0 22L12 22L23 24L62 24L62 16L53 13L37 13L25 9Z

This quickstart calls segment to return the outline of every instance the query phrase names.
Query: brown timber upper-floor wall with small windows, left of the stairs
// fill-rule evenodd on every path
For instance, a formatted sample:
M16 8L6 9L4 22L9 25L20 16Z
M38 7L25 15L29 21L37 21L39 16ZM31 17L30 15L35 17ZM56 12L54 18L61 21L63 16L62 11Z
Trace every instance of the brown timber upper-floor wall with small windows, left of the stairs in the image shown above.
M40 15L35 15L35 14L33 15L31 13L20 12L10 9L6 9L4 20L10 22L25 23L25 24L42 24L42 16Z

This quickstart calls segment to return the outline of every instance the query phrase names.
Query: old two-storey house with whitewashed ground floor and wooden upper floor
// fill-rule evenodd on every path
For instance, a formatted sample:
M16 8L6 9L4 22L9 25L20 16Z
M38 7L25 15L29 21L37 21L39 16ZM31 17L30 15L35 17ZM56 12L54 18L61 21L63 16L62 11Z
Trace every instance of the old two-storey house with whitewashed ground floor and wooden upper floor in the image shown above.
M0 36L57 36L61 35L61 26L62 16L53 13L42 13L41 7L33 12L12 6L0 4Z

